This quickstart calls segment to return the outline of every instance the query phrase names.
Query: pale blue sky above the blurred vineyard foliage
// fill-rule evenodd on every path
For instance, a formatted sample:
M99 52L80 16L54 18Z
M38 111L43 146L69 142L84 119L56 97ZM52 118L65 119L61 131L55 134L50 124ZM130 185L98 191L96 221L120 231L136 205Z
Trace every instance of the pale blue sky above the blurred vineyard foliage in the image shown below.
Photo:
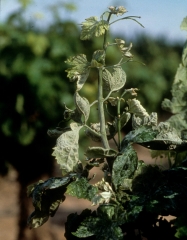
M124 33L130 38L144 33L152 37L165 37L168 41L181 43L187 39L187 32L180 30L180 24L187 16L187 0L33 0L27 9L26 16L36 25L42 28L47 27L52 21L49 6L65 2L75 3L77 10L75 12L59 10L62 19L81 23L90 16L99 17L109 6L122 5L128 10L125 16L141 16L139 21L145 28L130 20L120 21L113 25L111 29L113 33ZM0 0L0 3L0 22L3 22L11 12L19 9L20 6L16 0Z

